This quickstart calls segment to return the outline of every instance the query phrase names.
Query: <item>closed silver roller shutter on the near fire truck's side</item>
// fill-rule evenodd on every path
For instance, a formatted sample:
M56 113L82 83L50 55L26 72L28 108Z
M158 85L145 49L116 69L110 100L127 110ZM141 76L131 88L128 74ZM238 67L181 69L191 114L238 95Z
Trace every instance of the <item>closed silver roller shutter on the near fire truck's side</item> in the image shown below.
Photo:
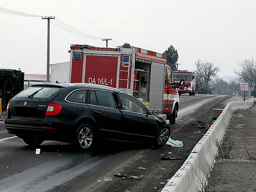
M150 73L149 109L163 111L164 63L152 62Z

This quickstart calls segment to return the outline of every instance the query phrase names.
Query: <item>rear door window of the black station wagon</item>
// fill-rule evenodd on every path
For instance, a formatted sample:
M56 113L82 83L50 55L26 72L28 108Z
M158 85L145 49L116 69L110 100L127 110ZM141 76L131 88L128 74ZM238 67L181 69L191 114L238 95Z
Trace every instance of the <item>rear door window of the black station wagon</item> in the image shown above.
M96 97L98 101L98 106L114 108L116 109L116 102L113 96L113 92L108 91L96 91Z

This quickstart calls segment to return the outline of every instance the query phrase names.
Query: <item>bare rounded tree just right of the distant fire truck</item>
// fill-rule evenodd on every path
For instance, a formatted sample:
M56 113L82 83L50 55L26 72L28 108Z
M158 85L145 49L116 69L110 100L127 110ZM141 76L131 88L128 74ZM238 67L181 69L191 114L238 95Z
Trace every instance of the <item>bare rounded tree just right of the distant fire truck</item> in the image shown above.
M219 67L215 67L214 63L209 61L196 61L196 75L197 79L201 82L201 93L211 93L213 91L212 77L217 77L217 73L220 71Z

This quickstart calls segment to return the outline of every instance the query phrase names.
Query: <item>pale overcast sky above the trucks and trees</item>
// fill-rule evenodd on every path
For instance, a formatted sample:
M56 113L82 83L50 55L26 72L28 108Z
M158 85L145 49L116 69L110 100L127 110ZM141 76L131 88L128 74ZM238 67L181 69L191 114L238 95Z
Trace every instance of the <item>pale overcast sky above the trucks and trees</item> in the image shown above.
M194 70L201 59L219 66L219 76L233 75L237 60L256 54L253 0L1 0L0 7L56 16L86 34L156 52L172 44L184 70ZM0 16L0 68L46 74L47 20ZM51 64L69 61L70 44L105 46L105 41L75 36L52 24L50 28Z

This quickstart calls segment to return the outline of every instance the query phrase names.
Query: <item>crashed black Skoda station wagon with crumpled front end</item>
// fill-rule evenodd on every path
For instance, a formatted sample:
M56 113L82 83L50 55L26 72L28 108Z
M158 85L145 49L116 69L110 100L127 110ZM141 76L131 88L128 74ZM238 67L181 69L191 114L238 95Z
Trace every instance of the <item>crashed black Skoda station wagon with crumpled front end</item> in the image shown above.
M162 147L170 136L166 116L154 116L131 95L96 84L42 83L14 96L5 127L28 145L64 141L88 151L100 139Z

